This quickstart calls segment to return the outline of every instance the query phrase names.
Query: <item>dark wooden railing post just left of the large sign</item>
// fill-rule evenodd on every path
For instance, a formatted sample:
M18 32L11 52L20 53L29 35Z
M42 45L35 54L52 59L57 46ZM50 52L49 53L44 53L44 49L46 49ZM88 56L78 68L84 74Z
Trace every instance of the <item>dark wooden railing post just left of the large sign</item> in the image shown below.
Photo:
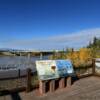
M26 84L26 92L30 92L31 91L31 69L28 68L27 69L27 80L26 80L27 84Z

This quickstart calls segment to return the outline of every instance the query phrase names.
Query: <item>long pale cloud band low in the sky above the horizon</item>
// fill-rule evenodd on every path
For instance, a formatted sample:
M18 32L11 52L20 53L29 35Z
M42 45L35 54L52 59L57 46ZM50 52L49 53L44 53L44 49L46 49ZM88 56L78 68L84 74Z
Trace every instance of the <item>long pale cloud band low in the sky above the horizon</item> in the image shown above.
M18 48L18 49L63 49L64 47L80 48L88 45L94 37L100 37L100 28L82 30L71 34L61 34L47 38L34 38L31 40L11 40L1 42L1 48Z

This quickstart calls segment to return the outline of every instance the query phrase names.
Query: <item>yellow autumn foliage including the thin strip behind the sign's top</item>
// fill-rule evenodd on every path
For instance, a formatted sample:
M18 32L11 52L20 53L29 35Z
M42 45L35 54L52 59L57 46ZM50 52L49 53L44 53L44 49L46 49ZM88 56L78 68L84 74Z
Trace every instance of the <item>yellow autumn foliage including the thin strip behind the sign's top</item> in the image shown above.
M93 55L96 55L91 48L80 48L78 51L69 50L66 53L57 53L50 56L50 59L70 59L74 67L88 67L92 64Z

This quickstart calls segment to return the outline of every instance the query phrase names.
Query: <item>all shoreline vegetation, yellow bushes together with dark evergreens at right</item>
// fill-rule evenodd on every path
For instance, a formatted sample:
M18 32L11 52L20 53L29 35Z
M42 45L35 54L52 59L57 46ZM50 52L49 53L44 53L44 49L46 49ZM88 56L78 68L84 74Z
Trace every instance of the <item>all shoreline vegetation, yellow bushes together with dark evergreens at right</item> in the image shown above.
M54 51L49 59L70 59L74 68L90 67L93 58L100 58L100 38L94 37L93 42L90 42L87 47L74 50L67 48L62 52Z

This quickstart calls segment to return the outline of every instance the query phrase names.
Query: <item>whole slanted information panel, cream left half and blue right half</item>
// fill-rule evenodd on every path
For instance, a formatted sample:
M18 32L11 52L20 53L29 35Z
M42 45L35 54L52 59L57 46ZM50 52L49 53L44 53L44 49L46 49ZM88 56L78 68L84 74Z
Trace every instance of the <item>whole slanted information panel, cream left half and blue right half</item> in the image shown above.
M70 60L40 60L36 61L36 68L40 80L55 79L73 73Z

